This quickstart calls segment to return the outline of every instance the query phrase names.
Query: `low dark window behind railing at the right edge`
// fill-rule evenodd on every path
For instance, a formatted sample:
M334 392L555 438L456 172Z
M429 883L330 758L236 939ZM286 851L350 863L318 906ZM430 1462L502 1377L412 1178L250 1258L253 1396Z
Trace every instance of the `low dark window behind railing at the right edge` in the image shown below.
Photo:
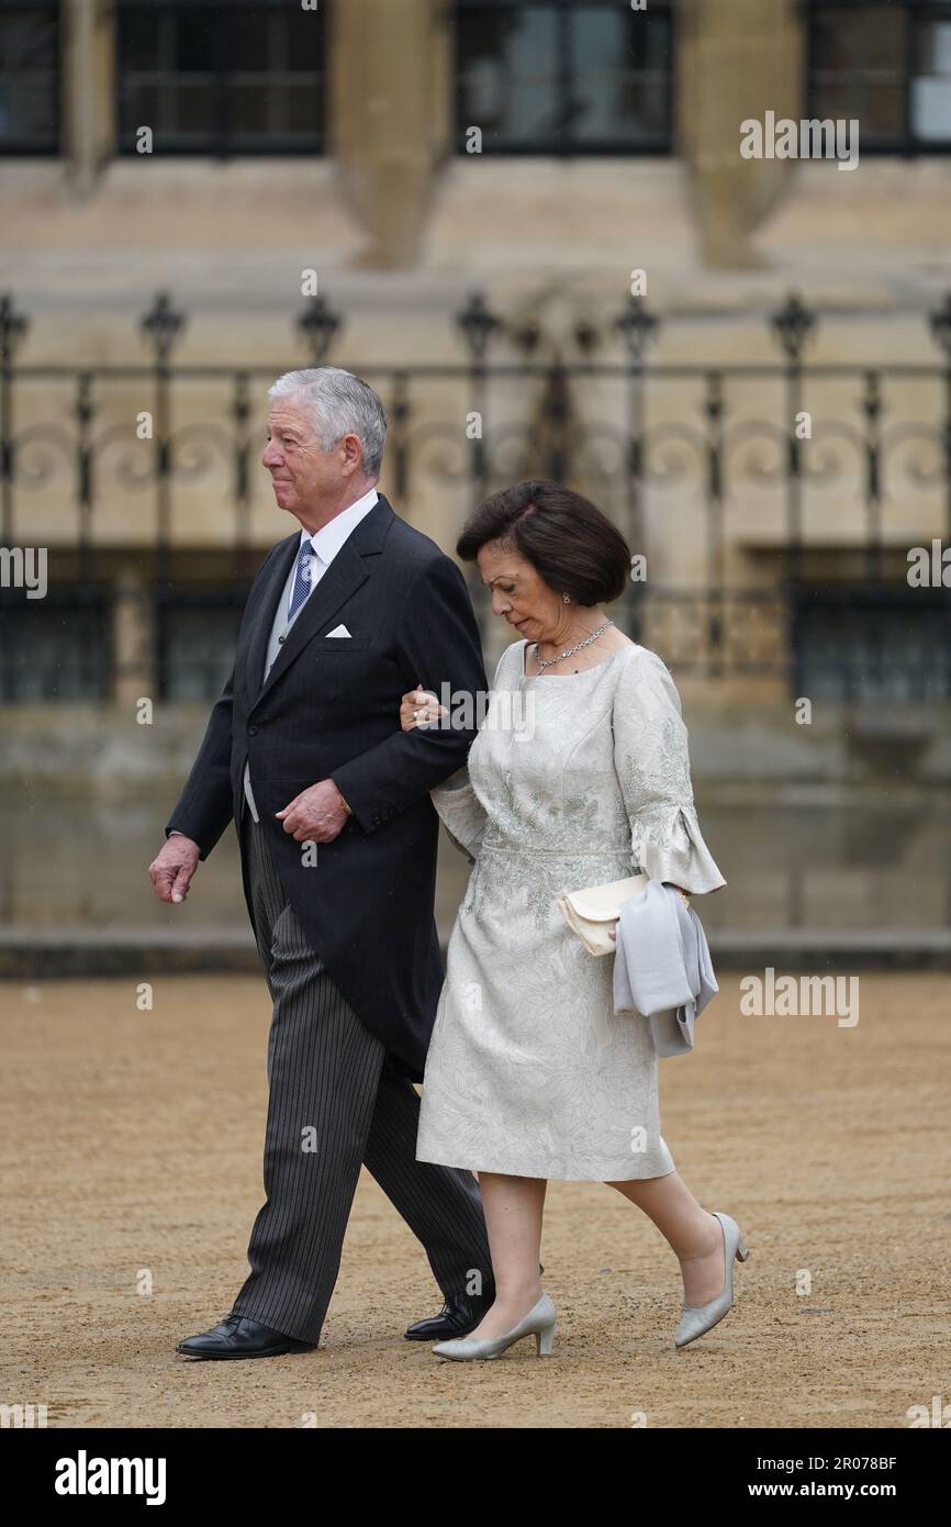
M797 695L951 696L951 600L942 589L801 591L792 621Z

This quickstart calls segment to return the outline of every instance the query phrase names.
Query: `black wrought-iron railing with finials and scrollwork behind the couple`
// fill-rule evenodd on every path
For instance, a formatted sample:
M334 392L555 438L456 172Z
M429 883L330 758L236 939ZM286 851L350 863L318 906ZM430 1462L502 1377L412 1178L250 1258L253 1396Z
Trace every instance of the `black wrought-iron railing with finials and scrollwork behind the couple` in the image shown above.
M52 594L66 625L70 600L108 605L130 551L142 573L151 634L133 658L105 643L92 686L104 696L130 661L157 669L159 690L174 693L163 631L177 603L209 621L217 612L227 646L275 539L258 461L264 392L295 359L182 363L185 325L160 295L140 324L145 363L32 365L21 360L27 319L0 301L0 545L41 534L56 548ZM308 363L330 357L340 325L324 298L310 301L296 324ZM846 698L951 693L951 594L939 580L908 605L907 577L910 547L951 541L951 295L930 315L934 350L920 360L808 362L818 325L791 296L769 315L772 354L754 333L750 360L658 362L662 325L641 298L608 324L583 318L553 336L540 316L504 322L476 293L458 313L456 362L340 363L386 402L383 490L411 521L429 505L423 518L430 525L435 513L449 550L493 489L568 481L646 559L620 618L675 669L792 686L809 673L820 690L824 672L827 692ZM214 534L195 539L195 513ZM475 577L472 591L488 632ZM893 618L902 608L907 651ZM838 617L850 623L849 663L837 654ZM21 591L0 589L8 698L37 618ZM209 663L211 692L218 658ZM44 692L56 693L55 676Z

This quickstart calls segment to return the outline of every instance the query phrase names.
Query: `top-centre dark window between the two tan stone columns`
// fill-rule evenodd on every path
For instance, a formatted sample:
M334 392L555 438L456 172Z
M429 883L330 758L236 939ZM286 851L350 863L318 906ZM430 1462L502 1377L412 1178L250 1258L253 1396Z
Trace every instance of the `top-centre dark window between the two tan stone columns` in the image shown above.
M669 153L670 32L664 0L456 0L459 153Z

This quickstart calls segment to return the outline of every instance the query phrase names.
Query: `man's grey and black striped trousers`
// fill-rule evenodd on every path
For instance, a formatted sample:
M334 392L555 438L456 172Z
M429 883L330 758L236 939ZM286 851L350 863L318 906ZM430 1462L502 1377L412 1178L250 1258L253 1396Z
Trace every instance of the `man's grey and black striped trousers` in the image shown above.
M316 1342L337 1280L360 1165L421 1241L444 1296L492 1295L492 1257L475 1177L415 1157L420 1098L385 1066L308 947L264 832L241 820L258 953L273 1000L267 1040L266 1202L250 1275L234 1304L272 1330ZM380 1266L386 1278L386 1266ZM415 1315L412 1318L417 1318Z

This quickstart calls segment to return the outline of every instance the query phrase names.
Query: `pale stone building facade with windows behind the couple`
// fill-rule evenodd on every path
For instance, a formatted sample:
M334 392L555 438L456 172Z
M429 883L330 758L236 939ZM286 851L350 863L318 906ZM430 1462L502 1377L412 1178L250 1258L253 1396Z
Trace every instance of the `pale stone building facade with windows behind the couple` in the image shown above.
M949 37L904 0L3 6L0 539L53 600L6 591L5 698L214 692L287 530L264 389L322 356L444 547L519 476L601 502L687 683L946 695L907 557L949 534ZM856 165L769 140L823 119Z

